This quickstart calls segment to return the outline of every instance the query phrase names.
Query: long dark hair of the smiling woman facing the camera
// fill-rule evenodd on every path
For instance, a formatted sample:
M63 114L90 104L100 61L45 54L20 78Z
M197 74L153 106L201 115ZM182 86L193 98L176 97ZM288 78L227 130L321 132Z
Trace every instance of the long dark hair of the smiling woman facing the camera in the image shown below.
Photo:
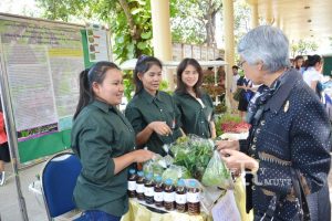
M198 81L194 85L193 88L194 88L196 96L200 97L201 96L200 86L203 83L203 70L201 70L200 64L195 59L188 59L188 57L184 59L181 61L181 63L179 63L179 65L177 66L177 70L176 70L176 77L177 77L176 84L177 85L176 85L175 92L180 93L180 94L187 92L187 86L183 82L181 75L188 65L193 65L196 69L196 71L198 72Z

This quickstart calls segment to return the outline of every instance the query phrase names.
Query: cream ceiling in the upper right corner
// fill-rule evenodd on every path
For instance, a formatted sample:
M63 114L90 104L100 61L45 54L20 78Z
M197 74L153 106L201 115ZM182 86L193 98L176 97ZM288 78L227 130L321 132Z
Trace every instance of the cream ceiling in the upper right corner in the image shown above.
M332 38L332 0L247 0L292 40Z

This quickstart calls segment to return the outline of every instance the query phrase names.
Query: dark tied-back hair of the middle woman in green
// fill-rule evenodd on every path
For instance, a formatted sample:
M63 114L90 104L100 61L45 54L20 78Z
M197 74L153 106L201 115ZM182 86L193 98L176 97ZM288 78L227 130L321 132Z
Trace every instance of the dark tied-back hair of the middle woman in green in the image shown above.
M153 65L157 65L163 69L162 62L154 56L141 55L137 60L135 70L134 70L134 83L135 83L135 95L138 94L143 90L143 83L138 78L138 74L144 74L147 72Z

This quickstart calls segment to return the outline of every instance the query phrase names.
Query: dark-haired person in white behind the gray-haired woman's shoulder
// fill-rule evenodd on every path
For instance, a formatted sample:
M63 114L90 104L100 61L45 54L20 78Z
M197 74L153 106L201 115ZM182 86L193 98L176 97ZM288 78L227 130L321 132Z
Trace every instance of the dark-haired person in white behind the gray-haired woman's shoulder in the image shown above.
M318 54L308 55L305 71L303 73L304 82L317 93L317 95L321 98L322 95L322 83L321 80L323 61L322 57Z

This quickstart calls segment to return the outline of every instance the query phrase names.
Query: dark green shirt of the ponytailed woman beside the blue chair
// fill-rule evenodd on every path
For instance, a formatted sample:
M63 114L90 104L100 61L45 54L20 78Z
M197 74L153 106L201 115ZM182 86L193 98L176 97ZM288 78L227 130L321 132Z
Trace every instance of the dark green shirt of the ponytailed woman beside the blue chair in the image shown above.
M72 148L83 167L74 189L77 208L116 217L128 211L127 169L114 175L113 158L134 145L134 129L116 107L94 101L82 109L72 127Z

